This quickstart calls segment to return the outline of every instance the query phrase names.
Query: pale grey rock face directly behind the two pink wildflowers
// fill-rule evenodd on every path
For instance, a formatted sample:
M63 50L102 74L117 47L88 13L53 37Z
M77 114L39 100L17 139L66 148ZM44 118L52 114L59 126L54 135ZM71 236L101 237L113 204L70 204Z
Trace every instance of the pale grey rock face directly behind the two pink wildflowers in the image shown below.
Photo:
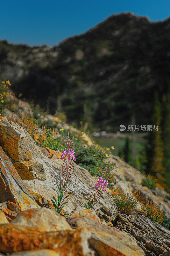
M46 181L41 181L38 179L35 180L23 180L25 187L29 191L38 193L42 197L51 201L53 196L57 197L57 193L53 190L53 183L51 183L51 174L55 177L56 181L59 182L59 173L61 173L61 164L60 159L48 159L44 157L41 159L44 168L47 173ZM87 204L87 194L90 193L91 189L94 187L96 181L89 174L87 170L81 168L79 165L74 164L73 166L74 173L69 181L67 193L70 194L71 199L68 200L68 204L65 204L64 210L66 213L71 214L74 208L80 205L84 208L84 204ZM107 209L107 211L104 210ZM109 192L103 192L102 197L98 203L94 206L96 214L106 220L113 220L117 215L116 206L113 203L112 196Z

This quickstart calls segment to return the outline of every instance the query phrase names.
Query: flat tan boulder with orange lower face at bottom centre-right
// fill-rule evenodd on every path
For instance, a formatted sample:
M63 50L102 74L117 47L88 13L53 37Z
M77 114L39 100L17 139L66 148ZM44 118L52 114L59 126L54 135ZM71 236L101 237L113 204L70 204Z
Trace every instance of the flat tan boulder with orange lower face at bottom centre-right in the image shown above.
M99 256L124 255L144 256L144 251L128 235L120 232L117 228L100 224L88 217L75 217L68 219L72 228L88 228L92 235L89 245Z

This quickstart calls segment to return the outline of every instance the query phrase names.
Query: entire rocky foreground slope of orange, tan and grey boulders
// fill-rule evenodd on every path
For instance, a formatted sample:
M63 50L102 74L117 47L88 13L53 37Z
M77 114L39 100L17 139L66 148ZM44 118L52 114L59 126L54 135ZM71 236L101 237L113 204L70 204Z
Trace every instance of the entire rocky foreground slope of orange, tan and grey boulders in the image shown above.
M19 104L23 106L24 102ZM25 107L25 111L28 109ZM4 112L5 116L11 115L7 109ZM52 120L52 116L50 118ZM108 160L116 164L111 170L116 175L115 188L138 189L145 199L159 204L166 216L170 216L166 191L141 186L144 176L119 157L110 155ZM118 214L109 189L103 192L94 211L84 209L87 193L96 179L75 163L73 168L67 193L74 196L61 212L69 213L65 219L54 212L51 203L51 198L57 197L52 189L51 174L59 181L60 153L49 158L48 150L37 146L23 127L0 116L1 253L157 256L170 250L170 231L145 217L145 212L140 210L135 215Z

